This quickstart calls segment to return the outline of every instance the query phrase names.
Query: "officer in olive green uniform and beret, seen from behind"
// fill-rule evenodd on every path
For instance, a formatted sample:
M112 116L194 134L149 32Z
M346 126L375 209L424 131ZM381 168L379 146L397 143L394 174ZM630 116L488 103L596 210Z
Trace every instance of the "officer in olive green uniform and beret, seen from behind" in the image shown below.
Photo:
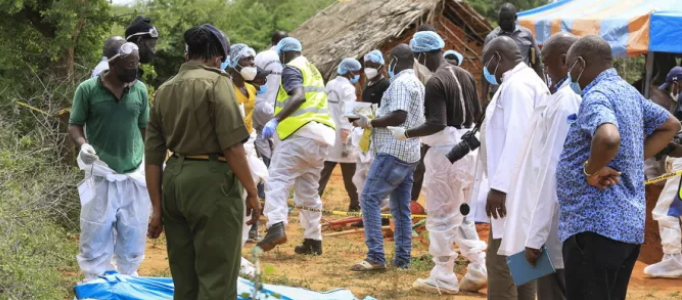
M236 299L242 185L248 224L260 215L242 146L249 134L230 78L219 69L229 55L227 37L206 24L184 40L187 62L159 88L147 125L149 236L166 230L174 299ZM173 155L162 172L167 150Z

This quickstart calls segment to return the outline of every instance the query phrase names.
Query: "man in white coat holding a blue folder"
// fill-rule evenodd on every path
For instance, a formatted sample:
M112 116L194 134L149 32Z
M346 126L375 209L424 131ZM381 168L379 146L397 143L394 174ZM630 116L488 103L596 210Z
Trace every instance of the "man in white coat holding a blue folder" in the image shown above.
M537 281L538 300L565 299L564 262L559 241L559 203L556 194L556 166L564 148L570 115L576 114L581 98L566 80L566 53L578 40L570 33L551 36L542 48L542 60L549 77L552 96L535 108L532 126L526 132L512 173L507 212L499 255L514 255L526 249L526 259L535 264L547 249L555 274ZM532 216L532 218L531 218Z

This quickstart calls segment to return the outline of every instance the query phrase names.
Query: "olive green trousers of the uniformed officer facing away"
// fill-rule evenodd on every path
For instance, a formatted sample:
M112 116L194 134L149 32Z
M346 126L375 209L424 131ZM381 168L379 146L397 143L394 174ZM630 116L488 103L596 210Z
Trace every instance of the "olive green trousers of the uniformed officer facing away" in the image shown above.
M163 226L175 300L237 298L244 201L225 162L172 157L163 172Z

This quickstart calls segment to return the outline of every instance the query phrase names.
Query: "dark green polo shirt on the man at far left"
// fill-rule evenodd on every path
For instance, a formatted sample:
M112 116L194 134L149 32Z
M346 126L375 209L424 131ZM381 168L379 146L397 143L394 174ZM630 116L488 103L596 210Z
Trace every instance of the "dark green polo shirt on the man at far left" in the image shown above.
M142 163L149 101L144 83L123 91L120 101L101 82L101 76L82 82L73 97L69 124L87 128L88 143L99 158L119 174L133 172Z

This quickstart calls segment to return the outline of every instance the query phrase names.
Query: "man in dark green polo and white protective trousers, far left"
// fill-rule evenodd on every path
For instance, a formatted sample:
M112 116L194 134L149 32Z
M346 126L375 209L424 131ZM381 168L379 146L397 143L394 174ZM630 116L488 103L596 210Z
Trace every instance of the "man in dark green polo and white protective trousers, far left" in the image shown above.
M80 84L69 119L69 135L80 147L78 164L85 172L78 187L81 236L76 257L85 282L112 267L137 274L151 210L142 167L149 102L145 85L136 81L138 48L124 40L110 47L116 54L109 58L109 71Z

